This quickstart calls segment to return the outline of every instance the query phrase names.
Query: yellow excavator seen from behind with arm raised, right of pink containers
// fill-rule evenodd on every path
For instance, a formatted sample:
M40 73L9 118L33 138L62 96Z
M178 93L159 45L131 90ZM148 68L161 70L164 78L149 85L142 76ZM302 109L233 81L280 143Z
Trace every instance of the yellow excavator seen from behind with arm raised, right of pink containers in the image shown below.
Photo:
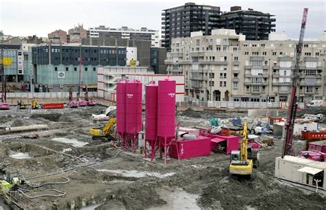
M231 152L230 174L252 176L252 167L259 165L259 151L248 145L248 121L245 120L241 146Z

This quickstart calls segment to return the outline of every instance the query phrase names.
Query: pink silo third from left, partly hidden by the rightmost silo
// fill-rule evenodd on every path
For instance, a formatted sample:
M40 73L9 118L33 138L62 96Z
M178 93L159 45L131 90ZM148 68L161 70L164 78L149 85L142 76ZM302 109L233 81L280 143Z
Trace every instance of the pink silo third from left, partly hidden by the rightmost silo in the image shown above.
M157 136L157 91L155 82L146 85L145 96L145 139L154 141Z

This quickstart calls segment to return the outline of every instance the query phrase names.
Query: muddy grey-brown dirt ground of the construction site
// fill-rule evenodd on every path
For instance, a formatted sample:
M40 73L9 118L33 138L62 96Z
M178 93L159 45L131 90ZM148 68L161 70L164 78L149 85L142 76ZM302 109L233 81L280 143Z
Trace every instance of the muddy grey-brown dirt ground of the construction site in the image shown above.
M33 132L0 134L0 176L19 170L30 185L28 196L67 194L61 197L25 199L25 209L325 209L324 194L307 191L274 177L274 159L283 142L272 136L274 146L261 150L254 180L228 174L230 156L212 153L168 165L143 159L144 154L111 150L110 143L92 141L88 135L91 114L102 106L64 110L6 110L0 112L0 127L47 124L39 139ZM221 119L246 113L209 110L178 112L182 126L203 126L210 117ZM85 144L87 143L87 144ZM295 141L302 150L305 141ZM85 145L84 145L85 144ZM13 155L27 155L14 159ZM64 184L65 180L69 180ZM51 191L56 189L58 191ZM21 195L21 194L20 194ZM24 196L19 196L23 199ZM0 209L14 205L0 199Z

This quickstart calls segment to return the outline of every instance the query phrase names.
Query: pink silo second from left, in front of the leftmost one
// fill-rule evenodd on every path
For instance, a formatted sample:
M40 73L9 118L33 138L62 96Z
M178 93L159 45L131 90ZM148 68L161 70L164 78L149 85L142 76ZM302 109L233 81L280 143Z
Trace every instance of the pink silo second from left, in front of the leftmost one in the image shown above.
M131 80L126 86L126 132L142 130L142 82Z

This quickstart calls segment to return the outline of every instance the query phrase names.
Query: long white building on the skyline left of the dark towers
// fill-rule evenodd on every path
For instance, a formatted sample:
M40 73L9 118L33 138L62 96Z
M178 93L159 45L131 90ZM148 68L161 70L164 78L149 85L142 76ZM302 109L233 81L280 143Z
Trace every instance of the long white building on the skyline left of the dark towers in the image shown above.
M157 30L149 30L142 27L135 30L129 27L110 28L105 25L90 27L88 37L94 38L127 38L131 40L151 40L151 47L160 47L160 36Z

